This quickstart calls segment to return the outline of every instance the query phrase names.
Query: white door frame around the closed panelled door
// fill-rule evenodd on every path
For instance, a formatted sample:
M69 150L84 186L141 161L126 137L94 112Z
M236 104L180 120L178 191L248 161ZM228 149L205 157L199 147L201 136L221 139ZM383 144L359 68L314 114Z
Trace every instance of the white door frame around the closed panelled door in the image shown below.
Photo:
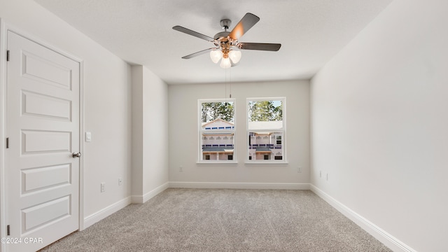
M13 25L6 23L0 18L0 237L7 237L6 223L8 215L6 214L6 185L5 185L5 175L6 175L6 87L7 83L7 64L6 64L6 45L7 45L7 34L8 31L13 31L15 34L19 34L34 43L38 43L45 48L58 52L69 59L79 63L79 148L80 153L84 154L84 61L70 53L56 48L51 43L43 41L41 38L36 38L29 34L27 31L23 31ZM78 230L84 230L84 158L79 160L79 228ZM6 251L6 244L0 244L0 251Z

